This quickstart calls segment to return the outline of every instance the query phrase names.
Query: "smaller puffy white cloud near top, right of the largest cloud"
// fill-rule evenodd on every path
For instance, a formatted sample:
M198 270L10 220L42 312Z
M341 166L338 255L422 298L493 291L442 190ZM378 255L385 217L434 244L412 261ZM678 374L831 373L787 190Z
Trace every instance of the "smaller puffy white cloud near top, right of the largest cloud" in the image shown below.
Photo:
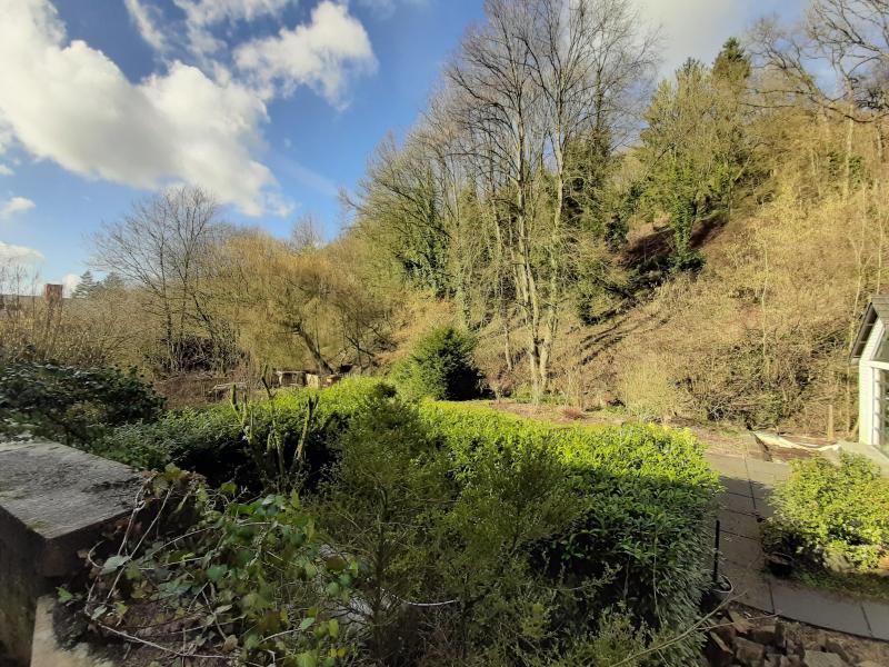
M234 61L268 94L290 94L304 84L336 106L342 106L352 76L377 67L361 22L331 0L318 4L307 24L241 44Z

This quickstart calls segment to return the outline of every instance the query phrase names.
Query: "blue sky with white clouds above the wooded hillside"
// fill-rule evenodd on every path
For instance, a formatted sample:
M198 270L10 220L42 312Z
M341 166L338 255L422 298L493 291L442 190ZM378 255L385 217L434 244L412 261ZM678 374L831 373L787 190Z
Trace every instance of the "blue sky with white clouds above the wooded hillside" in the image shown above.
M802 0L638 0L665 72ZM480 0L0 0L0 261L88 268L89 235L164 183L328 237L387 132L423 109Z

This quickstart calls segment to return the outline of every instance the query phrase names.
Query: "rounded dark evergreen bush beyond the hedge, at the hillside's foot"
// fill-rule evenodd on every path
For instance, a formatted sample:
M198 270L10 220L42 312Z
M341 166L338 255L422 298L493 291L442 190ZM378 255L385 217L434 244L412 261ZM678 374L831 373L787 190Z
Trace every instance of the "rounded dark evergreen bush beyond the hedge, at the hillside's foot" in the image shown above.
M409 399L466 400L481 394L482 375L472 357L476 340L453 327L433 329L399 364L392 377Z

